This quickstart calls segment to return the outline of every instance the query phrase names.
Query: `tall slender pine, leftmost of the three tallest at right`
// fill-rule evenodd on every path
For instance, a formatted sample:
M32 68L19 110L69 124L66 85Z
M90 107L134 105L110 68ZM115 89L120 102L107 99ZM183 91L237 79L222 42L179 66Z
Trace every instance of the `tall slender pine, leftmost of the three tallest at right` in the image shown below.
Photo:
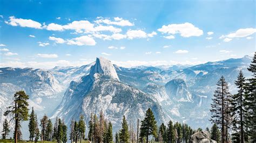
M221 141L227 141L228 121L230 120L230 92L225 78L221 76L217 83L217 89L213 95L213 103L211 104L211 119L212 123L217 124L221 128Z

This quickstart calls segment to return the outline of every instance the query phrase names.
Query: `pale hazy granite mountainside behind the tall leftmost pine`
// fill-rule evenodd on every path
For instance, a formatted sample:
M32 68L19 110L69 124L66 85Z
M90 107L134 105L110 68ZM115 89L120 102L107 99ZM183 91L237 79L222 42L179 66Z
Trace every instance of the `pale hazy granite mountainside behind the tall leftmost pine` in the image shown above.
M24 90L29 95L32 106L40 117L56 108L62 98L63 87L52 75L51 71L33 68L0 68L0 124L4 120L3 113L12 102L12 95ZM2 126L0 126L2 131Z

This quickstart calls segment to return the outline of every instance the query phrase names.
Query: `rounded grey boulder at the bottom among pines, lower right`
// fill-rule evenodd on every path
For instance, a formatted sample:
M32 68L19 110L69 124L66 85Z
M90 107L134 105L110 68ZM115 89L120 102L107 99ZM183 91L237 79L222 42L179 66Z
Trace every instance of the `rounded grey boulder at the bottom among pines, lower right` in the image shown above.
M210 134L207 131L200 131L192 134L190 136L191 143L217 143L217 141L212 140Z

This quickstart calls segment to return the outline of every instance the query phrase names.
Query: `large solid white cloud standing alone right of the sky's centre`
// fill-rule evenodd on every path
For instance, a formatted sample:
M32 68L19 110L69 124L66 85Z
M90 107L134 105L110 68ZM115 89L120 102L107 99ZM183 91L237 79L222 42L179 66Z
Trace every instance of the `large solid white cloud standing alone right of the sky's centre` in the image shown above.
M184 24L169 24L163 25L161 28L158 29L161 33L167 34L180 34L181 37L191 37L191 36L200 36L203 35L203 30L200 30L198 27L195 27L191 23L184 23Z

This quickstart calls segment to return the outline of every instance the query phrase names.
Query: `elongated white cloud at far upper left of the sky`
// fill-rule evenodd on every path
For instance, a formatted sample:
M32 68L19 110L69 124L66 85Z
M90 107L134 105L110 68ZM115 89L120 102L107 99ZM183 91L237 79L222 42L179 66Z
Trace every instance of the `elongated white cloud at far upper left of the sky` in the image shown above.
M21 26L21 27L30 27L30 28L37 28L42 29L42 24L38 23L31 19L22 19L22 18L15 18L14 16L9 17L8 21L5 21L6 24L11 26Z

